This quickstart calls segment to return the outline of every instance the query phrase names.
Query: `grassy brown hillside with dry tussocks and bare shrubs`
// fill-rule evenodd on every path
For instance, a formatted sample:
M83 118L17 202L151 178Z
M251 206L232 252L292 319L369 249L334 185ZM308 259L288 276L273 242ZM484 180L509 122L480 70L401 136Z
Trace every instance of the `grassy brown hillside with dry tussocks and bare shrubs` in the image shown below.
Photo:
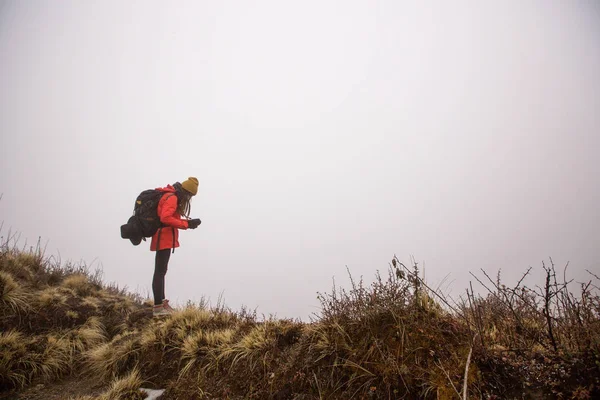
M458 302L394 258L369 287L319 294L311 323L189 305L161 319L98 273L0 251L0 399L600 397L596 277Z

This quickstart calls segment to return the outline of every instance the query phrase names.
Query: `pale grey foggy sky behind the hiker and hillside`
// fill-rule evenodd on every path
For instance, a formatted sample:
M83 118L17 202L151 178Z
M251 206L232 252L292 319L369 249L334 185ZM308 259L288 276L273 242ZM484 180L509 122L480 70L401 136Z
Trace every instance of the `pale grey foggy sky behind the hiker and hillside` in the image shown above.
M154 253L119 226L197 176L180 303L305 318L393 254L454 295L548 256L584 278L598 71L594 1L0 0L2 234L149 293Z

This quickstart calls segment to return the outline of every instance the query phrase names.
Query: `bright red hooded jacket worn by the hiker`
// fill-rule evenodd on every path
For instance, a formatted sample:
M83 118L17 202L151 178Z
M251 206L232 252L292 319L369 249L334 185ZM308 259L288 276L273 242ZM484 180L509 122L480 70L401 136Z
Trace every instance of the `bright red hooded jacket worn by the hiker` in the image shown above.
M179 229L187 229L187 220L182 219L177 212L177 192L171 185L164 188L157 188L164 192L158 202L157 214L160 221L165 225L160 228L150 243L150 250L174 249L179 247ZM160 240L159 240L160 237ZM158 248L157 248L158 243Z

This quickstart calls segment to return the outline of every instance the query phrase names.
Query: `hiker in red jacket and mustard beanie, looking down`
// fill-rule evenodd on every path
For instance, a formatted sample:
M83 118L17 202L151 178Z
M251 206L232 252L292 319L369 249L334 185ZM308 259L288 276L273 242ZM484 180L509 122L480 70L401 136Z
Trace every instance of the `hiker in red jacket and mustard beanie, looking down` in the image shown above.
M171 257L171 249L179 247L179 229L196 229L200 219L188 219L190 201L198 193L198 179L189 177L183 183L175 183L158 188L162 195L157 214L163 226L152 236L150 250L156 251L152 293L154 295L153 315L165 315L173 311L165 298L165 275ZM182 218L182 216L184 218Z

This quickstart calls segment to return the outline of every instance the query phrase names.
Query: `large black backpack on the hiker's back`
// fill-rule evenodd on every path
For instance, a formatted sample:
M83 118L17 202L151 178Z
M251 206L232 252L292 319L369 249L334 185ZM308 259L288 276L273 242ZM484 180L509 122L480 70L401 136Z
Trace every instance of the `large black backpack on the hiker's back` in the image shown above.
M142 238L152 237L162 227L157 214L158 202L165 192L157 189L144 190L135 199L133 216L125 225L121 225L121 237L131 240L135 246Z

